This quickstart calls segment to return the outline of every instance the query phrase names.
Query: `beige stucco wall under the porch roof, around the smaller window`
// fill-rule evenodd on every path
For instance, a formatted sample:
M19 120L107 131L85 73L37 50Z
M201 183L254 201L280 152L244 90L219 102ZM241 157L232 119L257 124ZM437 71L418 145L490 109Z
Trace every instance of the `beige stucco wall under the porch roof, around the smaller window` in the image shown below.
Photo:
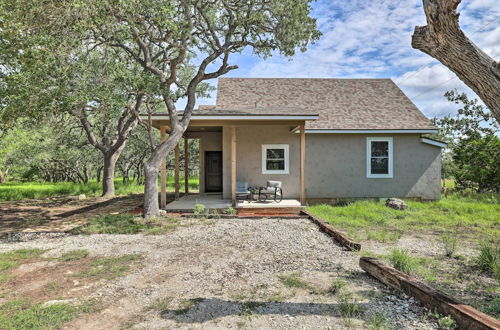
M285 198L297 198L300 189L300 136L289 126L243 126L236 128L236 179L251 186L264 186L267 180L282 182ZM223 192L231 198L231 131L223 127ZM262 145L288 144L289 174L262 174Z

